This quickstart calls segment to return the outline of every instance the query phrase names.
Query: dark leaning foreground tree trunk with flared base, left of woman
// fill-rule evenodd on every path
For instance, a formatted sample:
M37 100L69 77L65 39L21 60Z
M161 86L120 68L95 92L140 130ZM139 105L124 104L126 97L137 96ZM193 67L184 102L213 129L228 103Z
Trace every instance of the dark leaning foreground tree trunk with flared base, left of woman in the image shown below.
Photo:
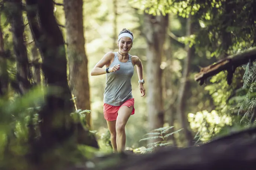
M39 112L41 136L34 140L29 155L31 162L39 169L47 169L47 163L52 159L60 159L58 154L50 151L61 144L73 141L69 146L75 148L77 143L93 147L98 147L98 143L94 135L84 129L80 122L75 123L70 116L75 111L75 105L67 81L64 39L53 14L53 1L26 0L26 4L30 29L43 59L42 71L47 87L54 88L47 93L45 104ZM54 166L58 166L58 163ZM61 164L65 165L63 162Z

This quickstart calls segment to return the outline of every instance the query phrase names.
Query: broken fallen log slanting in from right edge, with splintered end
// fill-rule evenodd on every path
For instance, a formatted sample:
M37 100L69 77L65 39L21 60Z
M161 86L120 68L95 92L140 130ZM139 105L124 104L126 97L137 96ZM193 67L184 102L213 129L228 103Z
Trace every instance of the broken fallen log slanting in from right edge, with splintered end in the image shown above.
M245 50L241 53L230 55L224 59L219 60L207 67L201 68L200 72L195 74L195 81L199 81L200 85L203 85L204 81L213 75L218 74L221 71L227 70L227 82L231 84L233 73L238 66L244 65L248 62L253 62L256 59L256 47Z

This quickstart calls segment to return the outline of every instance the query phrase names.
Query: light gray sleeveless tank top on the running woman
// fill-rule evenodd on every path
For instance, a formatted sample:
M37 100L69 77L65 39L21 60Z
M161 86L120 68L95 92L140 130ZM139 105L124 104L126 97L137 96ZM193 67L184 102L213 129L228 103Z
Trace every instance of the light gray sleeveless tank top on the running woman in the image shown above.
M114 61L109 67L120 64L120 69L116 72L106 74L104 103L113 106L120 106L126 100L133 98L131 92L131 78L134 73L134 65L131 62L130 54L126 63L120 62L117 52L114 54Z

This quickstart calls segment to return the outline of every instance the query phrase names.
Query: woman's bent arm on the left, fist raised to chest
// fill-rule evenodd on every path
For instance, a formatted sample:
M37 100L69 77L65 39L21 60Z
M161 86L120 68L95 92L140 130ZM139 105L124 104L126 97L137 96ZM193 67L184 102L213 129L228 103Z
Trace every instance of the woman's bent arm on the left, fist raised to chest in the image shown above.
M114 58L113 52L108 52L105 54L102 59L94 66L94 68L91 70L91 76L93 75L102 75L106 74L106 69L102 68L103 66L108 66L111 64L111 60ZM113 72L117 71L119 66L114 65L112 68L110 68L108 71Z

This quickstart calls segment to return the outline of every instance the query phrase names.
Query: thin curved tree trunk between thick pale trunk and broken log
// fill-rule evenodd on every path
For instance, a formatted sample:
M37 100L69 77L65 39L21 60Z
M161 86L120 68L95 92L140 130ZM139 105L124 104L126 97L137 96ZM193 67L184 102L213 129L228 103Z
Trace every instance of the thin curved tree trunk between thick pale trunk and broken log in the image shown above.
M191 21L190 17L187 19L187 36L191 35ZM190 88L188 87L189 83L189 73L190 73L190 62L192 58L192 49L189 46L186 46L187 57L184 59L183 74L180 81L180 89L178 93L178 107L177 113L180 118L181 127L185 133L185 138L188 146L193 145L193 136L190 132L189 122L187 120L186 114L186 94L189 92Z

